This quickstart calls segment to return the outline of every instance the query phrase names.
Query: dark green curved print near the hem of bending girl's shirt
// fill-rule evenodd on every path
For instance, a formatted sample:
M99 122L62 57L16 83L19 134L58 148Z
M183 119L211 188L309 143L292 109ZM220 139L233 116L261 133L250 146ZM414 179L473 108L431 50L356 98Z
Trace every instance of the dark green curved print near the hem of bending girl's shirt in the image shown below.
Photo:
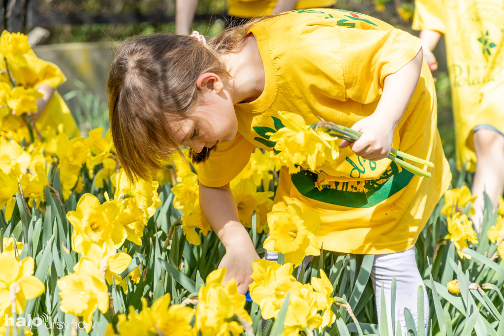
M392 162L387 171L376 180L334 182L333 187L317 188L318 175L307 170L291 175L296 189L305 197L339 206L369 208L380 204L404 189L414 174L399 170Z

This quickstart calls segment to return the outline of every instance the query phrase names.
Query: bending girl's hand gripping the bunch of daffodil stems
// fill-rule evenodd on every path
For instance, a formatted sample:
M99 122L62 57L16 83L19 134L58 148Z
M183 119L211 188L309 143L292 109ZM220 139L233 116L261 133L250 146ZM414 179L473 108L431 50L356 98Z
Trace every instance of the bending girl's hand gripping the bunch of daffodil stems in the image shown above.
M389 156L395 129L390 120L373 114L356 122L352 129L362 133L362 136L353 143L342 140L340 148L350 146L355 154L371 161Z

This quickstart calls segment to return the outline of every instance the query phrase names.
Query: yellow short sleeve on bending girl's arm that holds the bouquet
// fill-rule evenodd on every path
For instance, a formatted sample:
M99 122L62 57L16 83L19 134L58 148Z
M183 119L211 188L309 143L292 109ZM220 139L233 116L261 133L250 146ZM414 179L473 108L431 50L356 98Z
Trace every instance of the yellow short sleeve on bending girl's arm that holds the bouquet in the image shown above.
M362 104L380 98L385 77L408 64L422 41L399 29L340 29L345 99Z

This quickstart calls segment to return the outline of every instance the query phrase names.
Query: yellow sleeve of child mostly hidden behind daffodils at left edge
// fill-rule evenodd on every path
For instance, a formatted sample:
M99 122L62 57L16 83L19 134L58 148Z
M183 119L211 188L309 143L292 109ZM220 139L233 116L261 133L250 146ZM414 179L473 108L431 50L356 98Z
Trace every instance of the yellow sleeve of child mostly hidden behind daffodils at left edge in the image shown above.
M36 88L41 84L57 88L67 78L55 64L39 59L33 51L26 55L28 66L15 70L14 77L19 84Z

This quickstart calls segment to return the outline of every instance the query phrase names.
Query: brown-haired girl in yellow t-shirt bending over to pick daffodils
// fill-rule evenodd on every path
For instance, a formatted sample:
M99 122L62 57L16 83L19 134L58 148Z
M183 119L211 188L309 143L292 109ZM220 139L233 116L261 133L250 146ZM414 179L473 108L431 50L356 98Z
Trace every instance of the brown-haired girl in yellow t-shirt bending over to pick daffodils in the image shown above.
M376 255L371 279L379 313L382 284L390 309L395 276L395 320L404 326L405 307L416 317L423 282L414 244L451 179L421 41L337 10L289 12L208 43L195 37L134 38L113 61L110 128L126 174L147 176L180 145L205 152L198 171L201 207L226 248L219 267L244 294L259 256L238 220L229 182L256 146L272 150L265 130L281 127L279 110L299 114L306 124L322 118L352 127L362 137L342 141L324 174L289 175L282 168L274 210L295 203L316 211L324 249ZM433 162L432 178L384 159L391 146ZM428 316L428 299L425 307Z

